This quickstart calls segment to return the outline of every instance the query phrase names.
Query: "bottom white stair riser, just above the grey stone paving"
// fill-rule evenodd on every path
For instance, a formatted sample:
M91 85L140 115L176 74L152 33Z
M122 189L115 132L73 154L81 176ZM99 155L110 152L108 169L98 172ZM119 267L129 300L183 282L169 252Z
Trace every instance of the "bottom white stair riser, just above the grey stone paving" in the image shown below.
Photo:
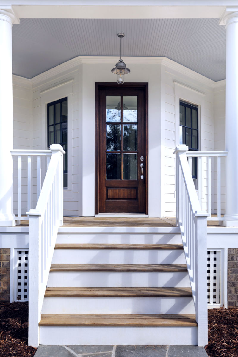
M197 327L40 326L41 345L197 345Z

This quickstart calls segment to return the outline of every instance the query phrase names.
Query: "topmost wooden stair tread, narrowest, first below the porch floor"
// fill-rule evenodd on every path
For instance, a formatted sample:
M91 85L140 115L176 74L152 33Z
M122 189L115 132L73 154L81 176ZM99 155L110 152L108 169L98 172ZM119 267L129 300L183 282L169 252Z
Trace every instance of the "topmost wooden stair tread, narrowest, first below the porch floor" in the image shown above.
M56 244L55 249L183 249L182 244L91 244L91 243L66 243Z

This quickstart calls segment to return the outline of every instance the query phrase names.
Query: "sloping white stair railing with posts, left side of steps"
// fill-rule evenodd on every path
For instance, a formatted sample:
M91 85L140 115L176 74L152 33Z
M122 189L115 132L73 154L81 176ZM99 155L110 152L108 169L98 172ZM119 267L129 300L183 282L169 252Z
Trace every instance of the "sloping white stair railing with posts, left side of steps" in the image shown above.
M52 157L36 208L29 215L29 346L39 346L39 322L57 232L63 224L63 154L59 144Z

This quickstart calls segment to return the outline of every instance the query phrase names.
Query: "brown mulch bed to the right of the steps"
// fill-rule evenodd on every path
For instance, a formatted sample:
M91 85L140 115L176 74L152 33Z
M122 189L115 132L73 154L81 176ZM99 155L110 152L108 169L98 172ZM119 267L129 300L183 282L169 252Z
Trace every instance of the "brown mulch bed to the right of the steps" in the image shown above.
M238 357L238 308L208 310L209 357Z

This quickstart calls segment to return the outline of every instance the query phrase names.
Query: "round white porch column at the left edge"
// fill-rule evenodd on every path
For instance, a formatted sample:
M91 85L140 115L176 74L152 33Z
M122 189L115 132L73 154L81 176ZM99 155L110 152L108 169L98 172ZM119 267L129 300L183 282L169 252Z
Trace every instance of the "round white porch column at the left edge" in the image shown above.
M13 102L12 38L15 16L0 9L0 226L14 226L13 212Z

